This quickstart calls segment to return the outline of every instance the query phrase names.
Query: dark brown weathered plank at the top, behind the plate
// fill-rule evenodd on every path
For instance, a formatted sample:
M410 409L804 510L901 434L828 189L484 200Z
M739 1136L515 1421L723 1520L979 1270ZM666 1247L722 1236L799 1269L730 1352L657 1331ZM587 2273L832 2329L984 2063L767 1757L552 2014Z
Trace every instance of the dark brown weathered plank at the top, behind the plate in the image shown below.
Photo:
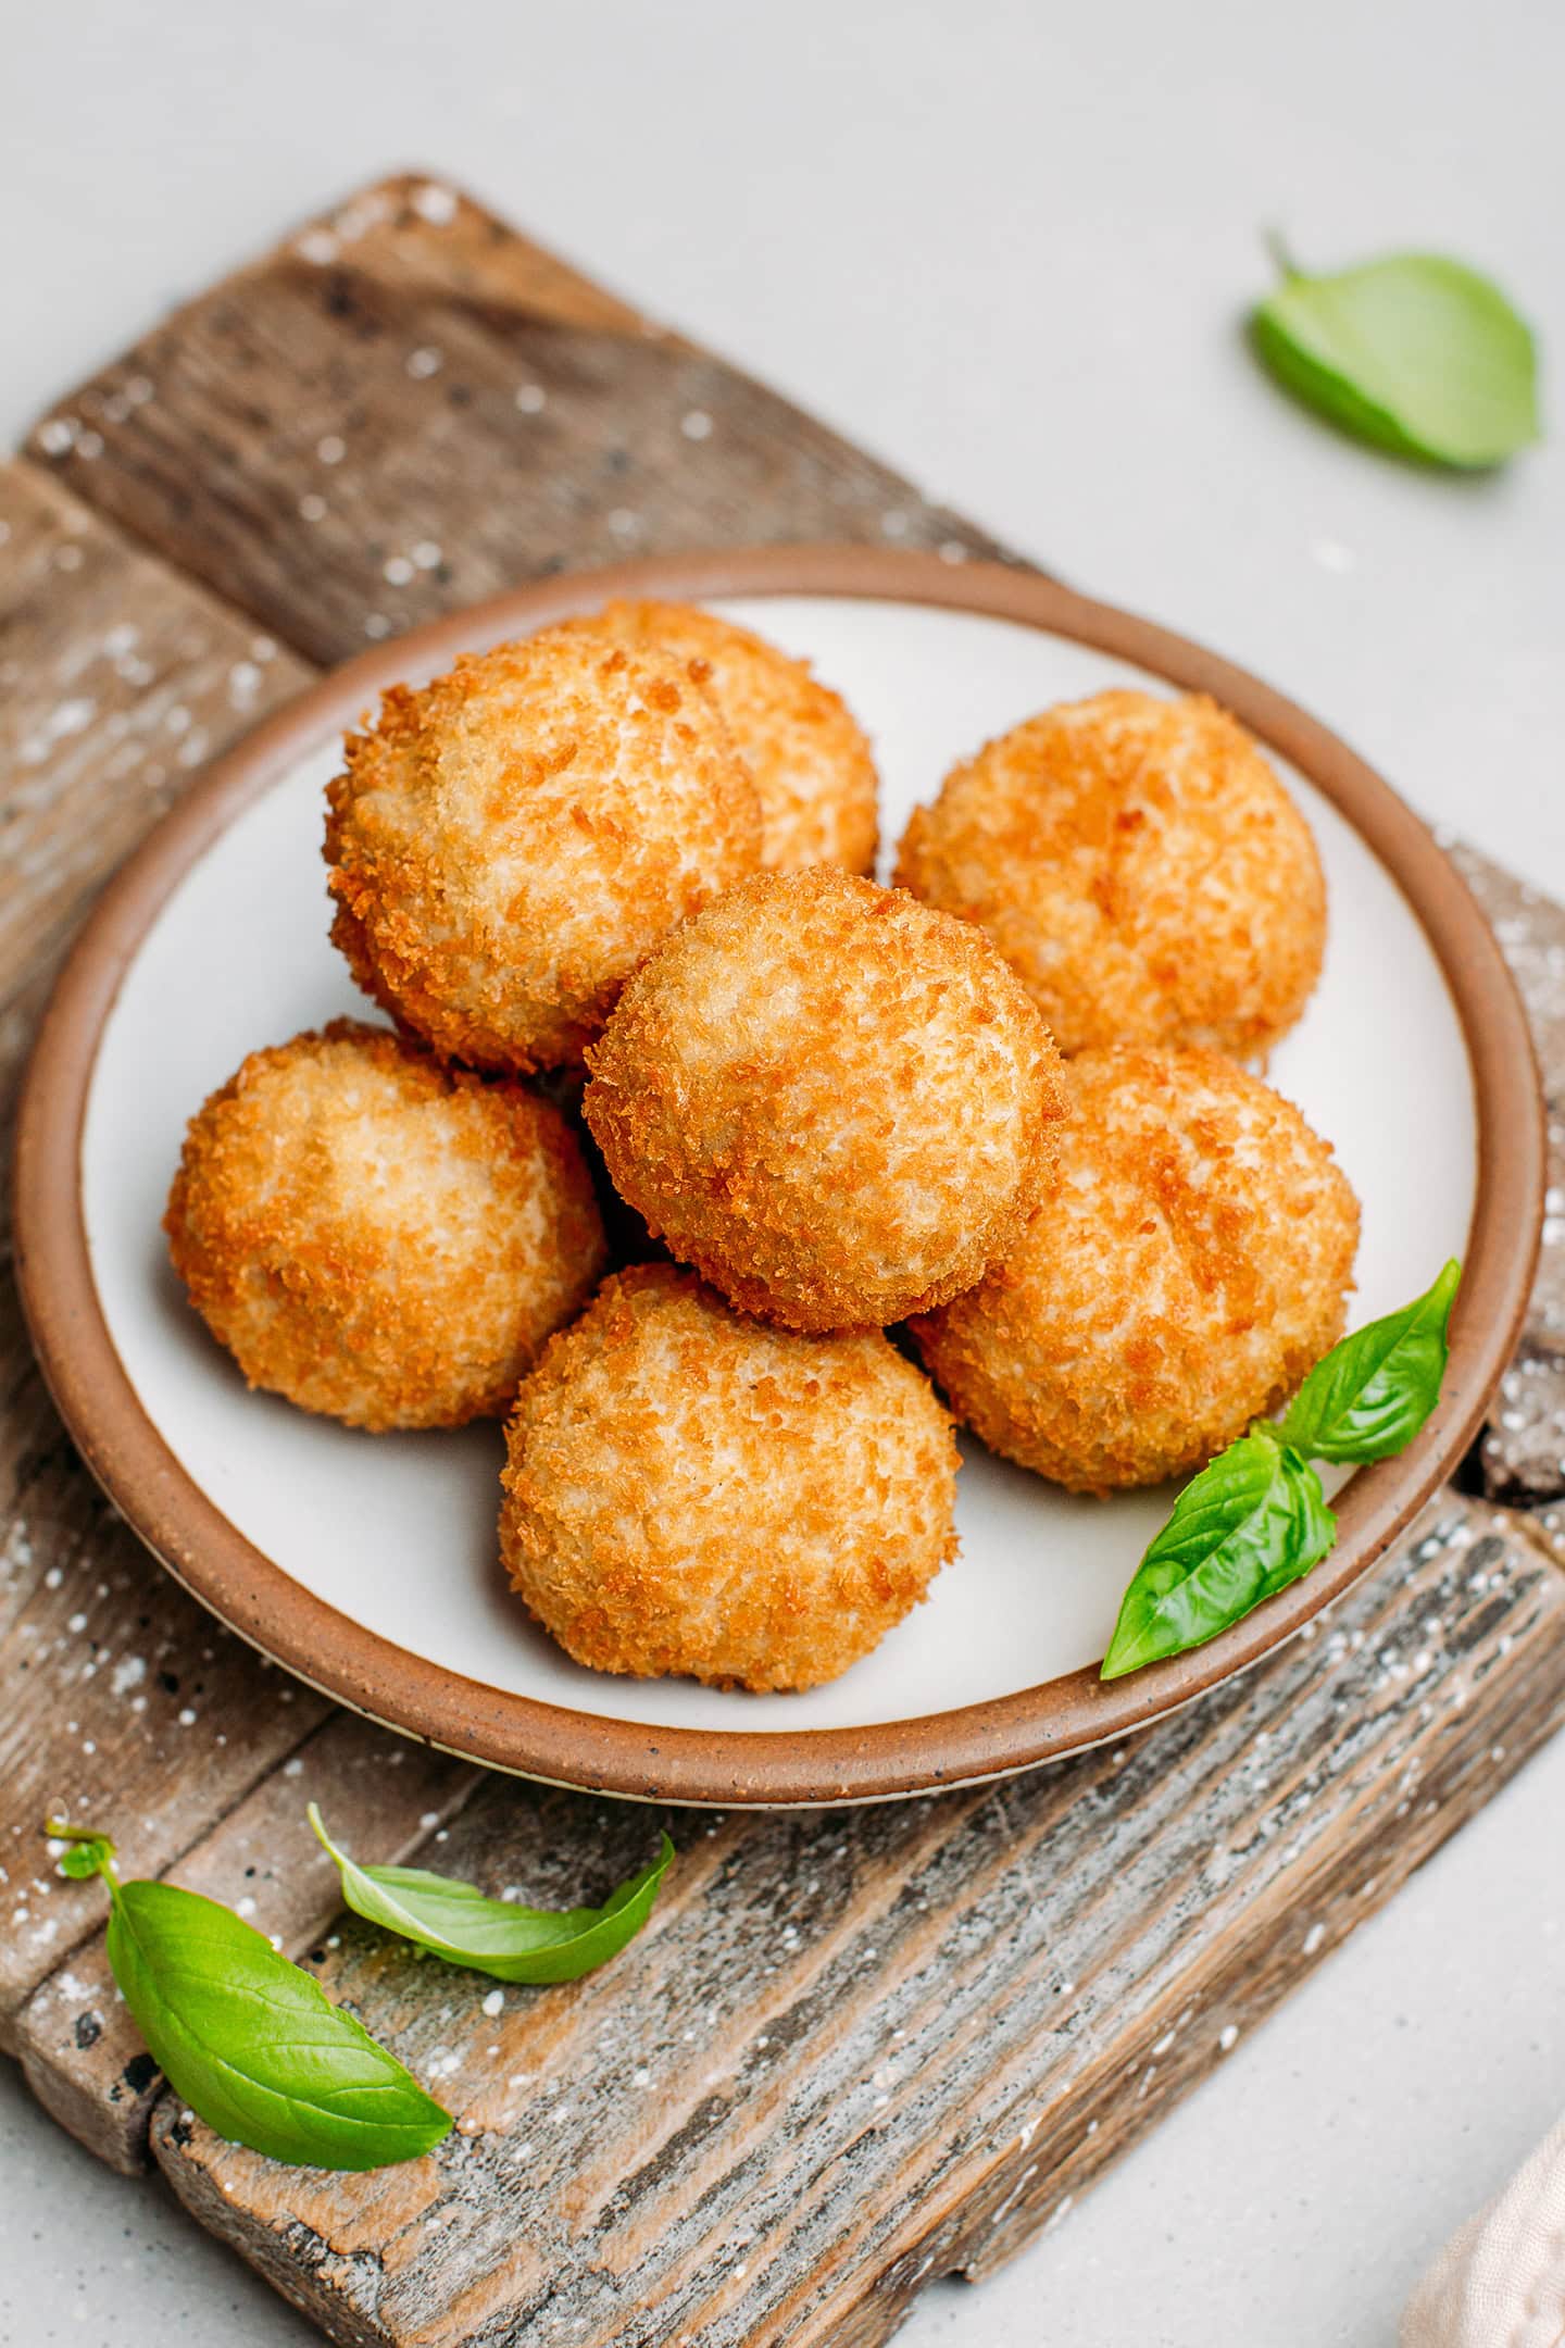
M777 392L404 178L176 312L28 453L312 660L636 552L997 554Z

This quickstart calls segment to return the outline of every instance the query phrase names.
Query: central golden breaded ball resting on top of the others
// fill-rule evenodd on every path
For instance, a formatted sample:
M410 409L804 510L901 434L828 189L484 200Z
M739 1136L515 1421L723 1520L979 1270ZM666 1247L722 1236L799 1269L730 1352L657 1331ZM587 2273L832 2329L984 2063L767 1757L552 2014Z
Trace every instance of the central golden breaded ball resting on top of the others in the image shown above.
M1063 1111L1049 1031L983 932L826 864L676 930L587 1066L615 1188L791 1329L971 1287L1021 1233Z

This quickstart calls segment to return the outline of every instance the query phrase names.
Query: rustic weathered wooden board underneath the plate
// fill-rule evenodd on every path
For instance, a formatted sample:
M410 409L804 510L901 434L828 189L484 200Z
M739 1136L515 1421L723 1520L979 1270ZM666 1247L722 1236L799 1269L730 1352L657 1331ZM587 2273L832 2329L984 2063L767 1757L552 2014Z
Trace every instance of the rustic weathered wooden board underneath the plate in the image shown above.
M819 538L1004 559L436 181L357 195L155 329L0 467L7 1134L103 878L319 667L549 571ZM1565 913L1459 862L1565 1097ZM887 2339L924 2280L1058 2221L1558 1726L1560 1254L1459 1489L1283 1653L988 1792L673 1813L652 1925L549 1991L338 1918L305 1801L364 1855L542 1904L598 1897L657 1815L404 1742L221 1632L89 1484L0 1277L0 2043L333 2339ZM460 2132L375 2177L216 2141L115 2003L52 1808L253 1914Z

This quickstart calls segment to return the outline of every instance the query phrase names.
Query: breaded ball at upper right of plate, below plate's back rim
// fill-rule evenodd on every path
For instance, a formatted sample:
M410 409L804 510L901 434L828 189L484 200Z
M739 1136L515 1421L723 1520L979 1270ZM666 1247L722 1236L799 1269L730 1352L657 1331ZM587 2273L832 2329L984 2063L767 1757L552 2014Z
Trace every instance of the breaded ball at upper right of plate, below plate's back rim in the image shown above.
M1187 693L1098 693L957 765L896 878L981 923L1061 1052L1267 1052L1326 949L1309 824L1244 728Z

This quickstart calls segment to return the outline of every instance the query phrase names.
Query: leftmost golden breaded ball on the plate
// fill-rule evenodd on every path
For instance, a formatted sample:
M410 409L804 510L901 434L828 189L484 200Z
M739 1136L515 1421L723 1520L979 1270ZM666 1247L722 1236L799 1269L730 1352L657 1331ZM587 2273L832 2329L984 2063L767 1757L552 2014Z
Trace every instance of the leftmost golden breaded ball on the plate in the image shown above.
M251 1385L373 1432L497 1418L605 1256L558 1108L354 1019L211 1094L164 1230Z

